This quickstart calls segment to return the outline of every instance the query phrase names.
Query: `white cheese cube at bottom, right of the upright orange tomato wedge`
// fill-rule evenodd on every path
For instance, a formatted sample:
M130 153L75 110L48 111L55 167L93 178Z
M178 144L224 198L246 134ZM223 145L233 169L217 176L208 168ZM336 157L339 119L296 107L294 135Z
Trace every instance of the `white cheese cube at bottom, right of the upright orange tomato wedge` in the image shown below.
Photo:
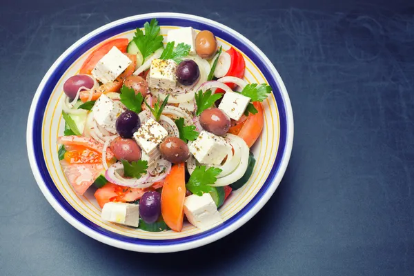
M184 199L184 213L190 224L206 229L222 222L217 206L209 193L190 195Z

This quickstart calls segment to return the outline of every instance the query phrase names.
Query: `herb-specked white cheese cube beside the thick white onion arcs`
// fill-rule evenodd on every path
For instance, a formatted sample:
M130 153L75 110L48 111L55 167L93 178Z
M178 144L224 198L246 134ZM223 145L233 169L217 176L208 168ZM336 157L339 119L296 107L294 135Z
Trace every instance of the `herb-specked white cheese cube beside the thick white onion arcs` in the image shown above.
M199 163L219 165L231 146L222 137L201 131L195 141L188 143L188 149Z

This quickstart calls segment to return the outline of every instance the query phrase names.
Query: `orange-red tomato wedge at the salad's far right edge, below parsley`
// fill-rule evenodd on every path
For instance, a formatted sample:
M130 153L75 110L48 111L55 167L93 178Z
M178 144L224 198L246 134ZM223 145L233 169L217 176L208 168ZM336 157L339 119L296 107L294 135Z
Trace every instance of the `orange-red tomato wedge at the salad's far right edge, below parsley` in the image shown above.
M242 128L240 128L239 133L237 136L244 139L247 146L251 148L253 144L255 144L255 141L257 138L259 138L260 133L263 130L263 124L264 124L264 114L263 114L263 106L262 103L259 101L255 101L253 103L253 106L257 109L256 114L249 114L246 121L242 121L240 124L242 125Z

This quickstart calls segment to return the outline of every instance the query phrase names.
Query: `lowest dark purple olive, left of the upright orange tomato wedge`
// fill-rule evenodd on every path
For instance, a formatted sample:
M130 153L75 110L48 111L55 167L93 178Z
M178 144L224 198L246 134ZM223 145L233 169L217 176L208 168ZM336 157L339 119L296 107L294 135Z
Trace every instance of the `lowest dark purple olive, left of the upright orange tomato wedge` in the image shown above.
M146 192L139 199L139 215L147 224L153 224L161 215L161 194Z

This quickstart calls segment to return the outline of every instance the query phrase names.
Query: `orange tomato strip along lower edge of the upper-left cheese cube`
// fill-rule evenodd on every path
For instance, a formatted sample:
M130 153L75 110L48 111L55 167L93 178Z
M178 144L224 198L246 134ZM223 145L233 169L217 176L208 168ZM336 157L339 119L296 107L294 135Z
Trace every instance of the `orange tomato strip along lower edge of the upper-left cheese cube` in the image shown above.
M135 64L137 63L137 56L125 54L132 62L130 65L125 69L124 72L115 79L115 81L110 81L108 83L102 84L98 88L92 88L92 98L90 101L96 101L99 97L101 97L102 93L106 92L118 92L122 85L124 84L124 79L132 75L135 70ZM79 98L81 101L86 102L90 97L90 90L82 90L79 92Z

